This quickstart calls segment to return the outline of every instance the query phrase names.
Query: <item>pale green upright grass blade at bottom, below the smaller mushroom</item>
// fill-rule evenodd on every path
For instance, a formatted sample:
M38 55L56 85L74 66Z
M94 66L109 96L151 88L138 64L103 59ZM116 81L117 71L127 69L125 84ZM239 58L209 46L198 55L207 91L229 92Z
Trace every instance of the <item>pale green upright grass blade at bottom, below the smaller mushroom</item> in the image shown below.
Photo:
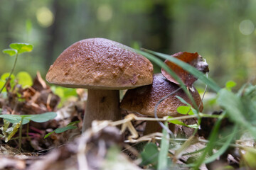
M166 128L168 128L168 123L165 123ZM168 158L168 152L169 152L169 134L167 133L167 130L163 128L163 137L161 139L161 147L158 157L158 164L157 164L157 170L162 169L168 169L169 165L169 158Z

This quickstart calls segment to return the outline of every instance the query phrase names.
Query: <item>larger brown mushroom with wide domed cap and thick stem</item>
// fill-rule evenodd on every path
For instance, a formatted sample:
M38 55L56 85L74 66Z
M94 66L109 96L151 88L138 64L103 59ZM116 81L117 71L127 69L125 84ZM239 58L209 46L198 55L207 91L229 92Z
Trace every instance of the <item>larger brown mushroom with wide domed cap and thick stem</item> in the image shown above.
M119 120L119 90L151 84L153 66L132 48L89 38L70 45L50 66L50 84L88 89L82 132L92 120Z

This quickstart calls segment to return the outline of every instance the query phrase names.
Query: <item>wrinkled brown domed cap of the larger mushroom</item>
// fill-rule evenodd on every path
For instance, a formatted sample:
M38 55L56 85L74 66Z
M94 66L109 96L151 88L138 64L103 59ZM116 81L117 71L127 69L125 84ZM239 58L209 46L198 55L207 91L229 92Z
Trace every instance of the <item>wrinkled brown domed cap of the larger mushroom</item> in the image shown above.
M51 84L85 89L132 89L151 84L153 66L130 47L105 38L70 45L50 66Z

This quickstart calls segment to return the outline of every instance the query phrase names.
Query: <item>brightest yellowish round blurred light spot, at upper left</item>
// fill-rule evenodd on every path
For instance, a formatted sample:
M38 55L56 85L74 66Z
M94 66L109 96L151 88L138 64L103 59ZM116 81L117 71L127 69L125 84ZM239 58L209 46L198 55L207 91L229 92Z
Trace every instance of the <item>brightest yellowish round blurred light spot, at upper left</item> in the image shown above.
M38 8L36 11L36 19L39 25L45 28L51 26L54 22L53 13L46 7Z

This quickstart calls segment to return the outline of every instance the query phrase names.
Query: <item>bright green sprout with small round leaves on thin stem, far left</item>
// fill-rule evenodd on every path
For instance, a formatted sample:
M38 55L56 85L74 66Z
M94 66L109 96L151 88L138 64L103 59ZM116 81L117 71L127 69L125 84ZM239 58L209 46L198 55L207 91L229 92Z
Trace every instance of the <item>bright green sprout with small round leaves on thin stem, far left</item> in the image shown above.
M6 79L6 81L4 83L4 86L1 87L0 94L4 90L4 87L6 86L7 82L9 81L9 79L11 78L11 75L14 72L14 69L16 67L16 62L18 60L18 55L23 52L31 52L33 50L33 45L28 44L28 43L23 43L23 42L22 43L11 43L9 45L9 47L11 47L11 48L4 49L3 52L5 54L8 54L9 56L15 55L14 66L12 67L9 77Z

